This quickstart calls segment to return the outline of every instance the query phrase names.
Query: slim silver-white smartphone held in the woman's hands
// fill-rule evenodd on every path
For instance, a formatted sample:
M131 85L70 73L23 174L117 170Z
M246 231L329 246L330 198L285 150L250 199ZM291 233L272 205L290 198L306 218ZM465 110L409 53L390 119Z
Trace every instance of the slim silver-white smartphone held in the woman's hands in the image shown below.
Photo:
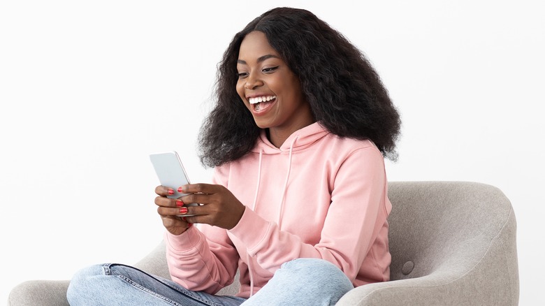
M185 173L184 165L180 160L177 152L161 152L150 154L150 160L152 161L153 168L157 177L159 177L159 182L162 186L170 187L174 189L174 194L168 195L167 198L180 198L180 196L185 196L186 194L180 194L177 191L178 187L189 184L189 178ZM196 206L197 203L185 204L184 206ZM189 217L189 214L185 215Z

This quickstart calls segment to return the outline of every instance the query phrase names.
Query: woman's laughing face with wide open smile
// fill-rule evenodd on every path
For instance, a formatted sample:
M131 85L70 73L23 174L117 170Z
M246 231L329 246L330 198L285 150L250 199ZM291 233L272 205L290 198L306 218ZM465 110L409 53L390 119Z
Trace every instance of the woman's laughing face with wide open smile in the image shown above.
M237 92L261 129L293 131L314 122L299 78L270 46L263 32L247 34L238 55Z

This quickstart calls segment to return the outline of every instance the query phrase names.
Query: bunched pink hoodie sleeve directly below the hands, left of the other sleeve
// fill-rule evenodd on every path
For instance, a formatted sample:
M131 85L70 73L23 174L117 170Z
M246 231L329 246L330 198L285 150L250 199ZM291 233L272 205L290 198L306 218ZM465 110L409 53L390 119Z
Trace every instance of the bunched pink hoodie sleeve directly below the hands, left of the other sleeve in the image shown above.
M225 184L225 177L215 171L213 183ZM225 229L208 224L198 228L192 226L181 235L166 231L168 270L173 281L186 289L214 294L233 282L238 252Z

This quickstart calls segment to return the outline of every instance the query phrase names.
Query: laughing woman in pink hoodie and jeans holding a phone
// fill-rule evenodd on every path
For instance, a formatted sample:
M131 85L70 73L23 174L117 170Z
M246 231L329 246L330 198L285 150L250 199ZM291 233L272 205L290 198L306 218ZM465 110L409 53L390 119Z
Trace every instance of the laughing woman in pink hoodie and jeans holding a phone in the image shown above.
M377 73L346 38L307 10L264 13L219 67L201 130L213 184L155 189L172 280L96 265L75 275L68 300L334 305L354 286L387 281L384 156L395 158L399 129ZM173 188L189 195L166 198ZM214 296L237 270L238 295Z

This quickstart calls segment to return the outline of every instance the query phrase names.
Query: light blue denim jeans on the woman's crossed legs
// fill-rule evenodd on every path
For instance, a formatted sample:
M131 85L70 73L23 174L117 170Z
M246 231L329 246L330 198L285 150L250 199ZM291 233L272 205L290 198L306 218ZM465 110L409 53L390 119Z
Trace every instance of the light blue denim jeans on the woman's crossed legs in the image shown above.
M249 299L189 291L162 277L119 264L92 265L76 273L68 286L68 303L77 305L335 305L353 289L333 263L299 258L284 263Z

